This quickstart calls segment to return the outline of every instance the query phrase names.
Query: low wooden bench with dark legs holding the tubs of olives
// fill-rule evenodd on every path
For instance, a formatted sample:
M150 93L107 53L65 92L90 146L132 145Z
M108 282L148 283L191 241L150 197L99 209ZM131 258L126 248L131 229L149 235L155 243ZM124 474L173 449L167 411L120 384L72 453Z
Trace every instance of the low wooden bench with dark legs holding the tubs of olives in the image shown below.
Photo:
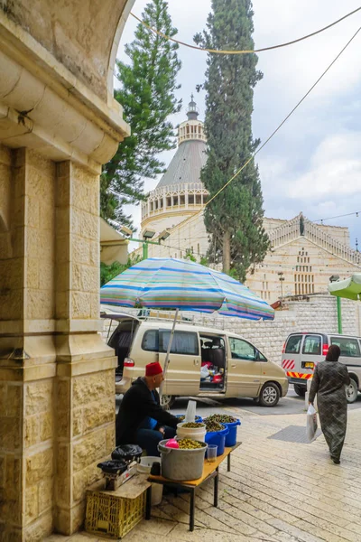
M164 478L163 476L150 475L148 481L153 483L161 483L175 489L183 489L190 492L190 531L194 530L194 515L196 510L195 499L196 490L206 481L214 478L214 491L213 491L213 506L218 507L218 476L219 465L227 458L227 472L231 470L231 453L238 448L242 443L236 443L235 446L225 448L225 453L218 455L214 463L209 463L207 459L204 460L203 475L198 480L187 481L175 481Z

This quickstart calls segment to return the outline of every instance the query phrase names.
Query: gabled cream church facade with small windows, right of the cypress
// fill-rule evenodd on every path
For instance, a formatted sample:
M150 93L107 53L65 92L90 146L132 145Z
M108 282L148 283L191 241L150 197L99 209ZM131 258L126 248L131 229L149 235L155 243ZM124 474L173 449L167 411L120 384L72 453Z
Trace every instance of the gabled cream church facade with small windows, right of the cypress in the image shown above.
M300 213L292 220L264 219L264 229L271 248L248 273L246 285L267 302L327 292L330 276L361 270L361 254L350 248L347 228L321 226Z

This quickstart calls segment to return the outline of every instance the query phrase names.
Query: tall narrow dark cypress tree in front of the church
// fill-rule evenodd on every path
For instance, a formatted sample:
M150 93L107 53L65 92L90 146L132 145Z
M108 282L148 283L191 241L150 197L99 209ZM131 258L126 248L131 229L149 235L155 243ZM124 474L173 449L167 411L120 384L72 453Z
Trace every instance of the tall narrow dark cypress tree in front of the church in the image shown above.
M251 0L212 0L207 30L196 34L203 47L252 50ZM254 88L263 74L255 54L208 54L206 119L208 161L201 173L210 197L236 173L255 151L252 135ZM268 238L263 228L263 197L258 168L250 162L242 173L211 201L205 224L211 234L210 261L222 258L223 270L245 280L247 269L263 261Z

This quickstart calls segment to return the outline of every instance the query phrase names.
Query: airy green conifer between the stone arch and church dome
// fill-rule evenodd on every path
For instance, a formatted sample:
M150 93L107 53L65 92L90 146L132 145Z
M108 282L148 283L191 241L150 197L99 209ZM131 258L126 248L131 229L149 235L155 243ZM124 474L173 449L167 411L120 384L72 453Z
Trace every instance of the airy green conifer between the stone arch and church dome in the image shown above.
M161 33L174 36L168 3L152 0L142 14L143 21ZM176 78L180 70L178 45L150 32L139 23L134 41L125 45L130 63L116 62L116 77L121 88L115 98L124 107L124 117L132 135L119 145L116 155L103 171L101 213L103 218L117 219L131 225L123 206L145 198L143 178L155 178L164 170L158 155L175 146L174 130L169 116L180 110L175 97ZM118 194L115 196L113 192Z

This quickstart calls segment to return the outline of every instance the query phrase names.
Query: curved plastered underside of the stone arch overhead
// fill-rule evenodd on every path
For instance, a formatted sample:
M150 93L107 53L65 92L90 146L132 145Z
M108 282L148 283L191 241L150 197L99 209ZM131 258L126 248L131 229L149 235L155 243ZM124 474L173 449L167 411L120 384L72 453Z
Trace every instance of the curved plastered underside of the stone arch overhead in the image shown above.
M135 0L3 0L0 11L99 98L113 94L116 50Z

